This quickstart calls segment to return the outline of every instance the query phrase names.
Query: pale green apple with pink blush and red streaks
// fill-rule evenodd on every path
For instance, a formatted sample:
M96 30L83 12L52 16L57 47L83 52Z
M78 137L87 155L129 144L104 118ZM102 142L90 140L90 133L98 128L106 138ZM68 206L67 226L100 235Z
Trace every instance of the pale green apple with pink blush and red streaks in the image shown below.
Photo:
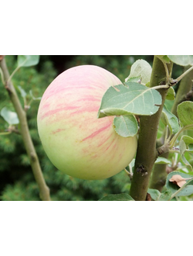
M86 180L109 178L134 158L137 137L120 137L114 116L97 119L103 94L120 85L102 67L72 67L52 81L42 96L38 130L49 160L66 175Z

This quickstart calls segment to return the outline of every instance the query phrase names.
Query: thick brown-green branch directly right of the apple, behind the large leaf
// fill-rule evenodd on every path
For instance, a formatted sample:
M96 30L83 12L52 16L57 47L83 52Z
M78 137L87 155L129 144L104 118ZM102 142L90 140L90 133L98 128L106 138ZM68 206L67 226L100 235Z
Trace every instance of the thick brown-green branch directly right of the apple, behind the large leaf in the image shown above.
M173 64L167 64L167 66L170 73ZM165 84L165 82L166 74L164 64L157 57L154 57L150 87L161 85L163 83ZM168 90L159 89L158 92L160 92L162 97L162 104L159 110L152 116L141 116L140 119L137 156L134 166L134 176L130 186L130 195L136 201L146 200L151 171L154 166L154 162L157 159L157 126L159 124Z

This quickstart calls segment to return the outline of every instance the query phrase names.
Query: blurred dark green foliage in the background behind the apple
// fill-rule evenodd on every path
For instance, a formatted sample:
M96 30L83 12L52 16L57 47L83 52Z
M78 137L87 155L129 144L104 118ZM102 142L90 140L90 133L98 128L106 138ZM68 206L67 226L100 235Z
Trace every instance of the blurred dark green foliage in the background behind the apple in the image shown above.
M153 55L41 55L36 67L22 67L12 78L15 88L21 86L27 93L27 102L41 97L51 81L69 67L94 64L106 68L121 81L130 74L130 67L137 59L144 59L151 65ZM16 67L17 55L5 57L10 74ZM174 67L174 77L181 74L181 67ZM18 90L20 101L24 104ZM3 107L14 111L8 94L0 80L0 111ZM51 164L39 140L36 116L39 101L33 101L27 112L29 129L36 146L43 175L49 185L51 199L56 201L98 200L108 194L129 192L130 178L124 171L102 181L84 181L63 175ZM0 133L5 132L8 123L0 116ZM39 189L32 175L29 159L21 136L12 133L0 136L0 199L4 201L39 201Z

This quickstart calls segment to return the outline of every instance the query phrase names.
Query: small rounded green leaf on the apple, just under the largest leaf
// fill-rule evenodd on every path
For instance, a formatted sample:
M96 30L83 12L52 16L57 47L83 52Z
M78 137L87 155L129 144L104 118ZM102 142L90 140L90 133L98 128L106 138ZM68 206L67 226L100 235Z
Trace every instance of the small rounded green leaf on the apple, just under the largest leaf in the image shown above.
M137 120L133 115L116 116L113 120L114 130L121 137L134 137L138 131Z

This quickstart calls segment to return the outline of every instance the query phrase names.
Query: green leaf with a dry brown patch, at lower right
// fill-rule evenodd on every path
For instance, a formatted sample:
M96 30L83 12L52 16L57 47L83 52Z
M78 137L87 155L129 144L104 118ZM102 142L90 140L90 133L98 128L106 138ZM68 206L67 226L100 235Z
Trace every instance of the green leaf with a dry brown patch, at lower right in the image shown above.
M178 185L169 181L171 179L171 177L174 175L181 175L182 178L192 178L192 179L188 180L186 182L186 184L180 188ZM187 175L187 174L179 172L179 171L172 171L171 173L169 173L168 177L166 179L165 185L168 190L171 190L171 194L174 196L176 196L176 195L185 196L185 195L193 194L193 176ZM171 198L173 198L173 197L171 196Z

